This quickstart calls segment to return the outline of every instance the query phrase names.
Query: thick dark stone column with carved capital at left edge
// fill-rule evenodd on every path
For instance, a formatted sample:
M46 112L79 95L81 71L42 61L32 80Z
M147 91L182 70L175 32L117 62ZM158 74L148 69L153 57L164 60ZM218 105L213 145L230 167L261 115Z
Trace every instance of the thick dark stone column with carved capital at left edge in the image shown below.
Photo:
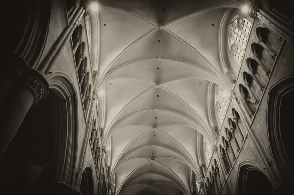
M0 105L0 161L21 126L27 112L49 93L49 84L42 73L29 68L20 57L12 59L7 74L15 84Z

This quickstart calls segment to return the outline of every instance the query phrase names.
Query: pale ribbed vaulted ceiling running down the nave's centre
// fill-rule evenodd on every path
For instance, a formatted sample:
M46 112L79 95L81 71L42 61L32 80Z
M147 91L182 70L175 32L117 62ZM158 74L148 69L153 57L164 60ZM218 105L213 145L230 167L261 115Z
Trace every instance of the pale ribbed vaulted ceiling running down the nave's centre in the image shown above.
M92 61L98 64L99 123L116 192L188 195L191 171L201 179L203 137L208 143L216 138L209 87L229 89L220 60L221 18L241 2L98 3Z

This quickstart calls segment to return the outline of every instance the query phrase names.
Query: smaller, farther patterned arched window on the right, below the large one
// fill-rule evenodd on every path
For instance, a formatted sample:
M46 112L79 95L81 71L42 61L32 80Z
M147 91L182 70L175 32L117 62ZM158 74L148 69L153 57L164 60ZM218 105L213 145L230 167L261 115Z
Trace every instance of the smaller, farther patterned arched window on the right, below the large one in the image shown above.
M219 115L221 122L223 122L228 105L229 105L229 98L223 92L221 87L219 85L216 85L216 87L215 87L215 108L216 108L216 111L218 112L218 115Z

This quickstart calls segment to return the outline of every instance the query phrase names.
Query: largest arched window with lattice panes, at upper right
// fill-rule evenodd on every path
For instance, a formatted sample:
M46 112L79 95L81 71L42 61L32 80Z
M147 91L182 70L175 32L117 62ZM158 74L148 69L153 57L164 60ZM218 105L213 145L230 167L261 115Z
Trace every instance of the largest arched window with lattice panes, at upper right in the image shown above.
M235 17L229 25L229 49L239 65L241 64L245 53L251 28L252 23L241 15Z

